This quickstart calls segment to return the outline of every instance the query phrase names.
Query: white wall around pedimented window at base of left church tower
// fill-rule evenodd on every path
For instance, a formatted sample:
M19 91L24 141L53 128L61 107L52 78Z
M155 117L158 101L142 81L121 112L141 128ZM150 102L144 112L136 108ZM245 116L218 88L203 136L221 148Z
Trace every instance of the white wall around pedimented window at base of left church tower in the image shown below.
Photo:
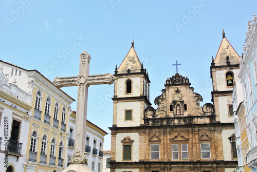
M116 135L116 162L122 162L122 142L126 136L129 136L131 140L134 140L132 143L132 161L139 161L139 133L117 133ZM121 170L122 171L122 170Z

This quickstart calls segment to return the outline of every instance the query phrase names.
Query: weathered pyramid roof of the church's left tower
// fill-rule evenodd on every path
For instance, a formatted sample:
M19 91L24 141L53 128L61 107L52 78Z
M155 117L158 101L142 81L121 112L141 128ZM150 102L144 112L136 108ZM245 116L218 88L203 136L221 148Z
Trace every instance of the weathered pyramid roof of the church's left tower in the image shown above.
M130 72L140 72L141 70L141 63L138 59L137 53L134 48L134 41L132 41L132 46L130 51L126 54L125 58L123 59L121 65L118 68L119 73L127 73L127 70L130 69Z

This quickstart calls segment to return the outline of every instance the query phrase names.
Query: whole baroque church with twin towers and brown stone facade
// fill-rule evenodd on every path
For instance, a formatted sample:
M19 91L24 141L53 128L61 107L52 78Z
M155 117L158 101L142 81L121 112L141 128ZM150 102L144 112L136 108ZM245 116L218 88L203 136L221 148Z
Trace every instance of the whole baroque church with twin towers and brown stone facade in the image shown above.
M225 37L211 63L212 102L176 73L160 90L153 108L150 79L132 42L115 69L111 172L235 171L232 90L240 56Z

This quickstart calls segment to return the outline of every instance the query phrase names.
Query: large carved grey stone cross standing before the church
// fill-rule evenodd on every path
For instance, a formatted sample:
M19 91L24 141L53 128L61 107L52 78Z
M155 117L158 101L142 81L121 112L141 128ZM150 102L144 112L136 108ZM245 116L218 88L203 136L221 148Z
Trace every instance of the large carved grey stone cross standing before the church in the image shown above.
M87 91L90 85L113 84L115 78L113 74L89 75L90 55L83 51L80 54L79 75L76 77L57 77L53 80L53 85L59 88L68 86L78 86L77 112L75 125L75 151L71 162L84 162L86 157L86 111L87 111Z

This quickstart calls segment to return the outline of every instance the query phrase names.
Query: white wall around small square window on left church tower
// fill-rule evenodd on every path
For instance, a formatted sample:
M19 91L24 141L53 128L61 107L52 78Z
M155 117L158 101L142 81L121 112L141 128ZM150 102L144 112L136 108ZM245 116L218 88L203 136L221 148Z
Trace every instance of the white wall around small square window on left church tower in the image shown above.
M132 121L125 121L125 110L132 110ZM139 126L140 125L140 102L119 102L117 103L117 125Z

